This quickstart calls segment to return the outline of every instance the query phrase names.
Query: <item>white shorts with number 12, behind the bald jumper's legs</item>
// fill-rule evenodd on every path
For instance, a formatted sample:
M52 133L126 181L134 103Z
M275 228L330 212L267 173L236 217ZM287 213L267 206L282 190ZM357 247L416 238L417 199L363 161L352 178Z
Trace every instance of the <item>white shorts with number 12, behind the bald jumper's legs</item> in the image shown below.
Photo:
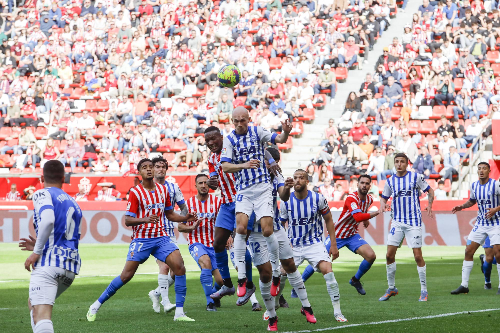
M279 243L279 260L293 257L290 240L283 229L274 230ZM262 232L252 231L248 236L248 245L253 258L253 265L258 266L269 261L269 252Z

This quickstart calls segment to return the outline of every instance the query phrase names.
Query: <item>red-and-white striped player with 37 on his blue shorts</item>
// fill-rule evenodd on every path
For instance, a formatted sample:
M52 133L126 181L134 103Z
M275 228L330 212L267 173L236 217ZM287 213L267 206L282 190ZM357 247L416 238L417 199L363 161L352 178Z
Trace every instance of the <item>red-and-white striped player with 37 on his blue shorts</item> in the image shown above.
M175 243L168 237L163 227L163 214L171 221L185 222L196 219L196 213L188 212L178 215L173 212L170 194L167 188L154 182L153 163L143 158L137 163L137 171L142 182L130 190L125 212L125 225L132 227L132 241L128 248L125 266L106 287L100 297L90 305L87 320L95 321L100 306L108 300L116 290L130 281L139 264L146 261L149 255L164 261L175 274L175 315L176 321L194 321L183 311L186 295L186 275L184 260ZM196 221L199 223L199 220Z

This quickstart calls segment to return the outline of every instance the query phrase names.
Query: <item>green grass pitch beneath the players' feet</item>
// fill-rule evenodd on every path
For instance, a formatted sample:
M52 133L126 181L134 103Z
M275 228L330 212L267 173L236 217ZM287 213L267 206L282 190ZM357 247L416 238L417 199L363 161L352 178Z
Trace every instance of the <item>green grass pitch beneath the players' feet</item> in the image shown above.
M174 322L173 313L154 313L147 296L149 290L157 286L157 265L153 258L142 264L137 275L111 297L97 313L95 322L88 322L85 313L88 306L100 295L111 279L121 271L126 244L81 244L82 266L79 277L59 298L53 309L52 321L56 332L262 332L266 322L262 321L262 312L251 312L250 305L235 305L236 296L222 298L222 306L217 312L205 310L205 297L199 282L199 270L187 252L187 246L180 246L187 272L187 296L184 310L196 322ZM299 313L300 302L290 298L290 285L287 283L284 296L289 308L280 308L278 329L285 331L308 331L328 327L339 328L349 324L372 323L383 320L434 316L442 313L474 311L500 308L500 296L495 295L498 285L496 267L491 272L492 290L483 289L483 275L477 256L474 258L469 281L469 294L450 295L449 291L460 283L462 246L426 246L423 256L427 264L427 283L429 300L418 302L420 285L411 250L401 247L396 254L396 287L399 294L388 301L380 302L386 287L385 246L375 246L377 260L361 279L366 295L357 294L348 284L355 273L360 256L343 248L340 256L333 262L333 271L340 287L340 305L342 313L349 320L336 322L324 279L319 273L306 282L309 301L318 320L309 324ZM23 263L29 252L20 251L17 244L0 243L0 331L30 332L29 312L27 309L29 273ZM304 266L299 267L302 271ZM236 271L232 270L235 276ZM102 276L108 275L108 276ZM233 279L234 280L234 279ZM258 273L253 270L253 280L258 282ZM258 286L258 283L257 283ZM260 294L257 287L257 299ZM170 288L170 299L175 299ZM378 324L363 324L340 328L346 332L483 332L498 329L500 310L471 312L444 317L412 319ZM495 328L496 327L496 328Z

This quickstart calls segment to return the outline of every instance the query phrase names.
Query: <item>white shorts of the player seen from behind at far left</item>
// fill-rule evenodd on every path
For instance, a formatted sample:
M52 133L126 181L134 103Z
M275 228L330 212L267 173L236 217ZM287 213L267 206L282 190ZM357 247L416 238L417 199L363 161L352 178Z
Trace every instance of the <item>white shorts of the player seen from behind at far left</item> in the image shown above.
M55 298L73 282L74 275L72 271L60 267L35 267L29 278L31 305L54 305Z

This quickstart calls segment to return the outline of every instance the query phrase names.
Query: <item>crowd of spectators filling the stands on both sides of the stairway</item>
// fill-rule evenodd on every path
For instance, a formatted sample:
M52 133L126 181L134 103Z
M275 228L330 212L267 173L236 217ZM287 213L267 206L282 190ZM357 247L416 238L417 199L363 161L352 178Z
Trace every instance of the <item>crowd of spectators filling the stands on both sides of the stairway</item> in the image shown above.
M330 119L308 168L314 187L366 168L381 188L393 172L386 156L405 151L449 188L464 149L497 116L497 1L431 2ZM395 0L9 2L0 13L0 166L39 171L57 158L68 171L128 174L159 151L173 169L203 171L203 127L227 133L237 105L254 124L280 131L289 118L300 134L315 109L335 103L338 81L367 62L397 10ZM233 89L217 83L226 63L242 73Z

